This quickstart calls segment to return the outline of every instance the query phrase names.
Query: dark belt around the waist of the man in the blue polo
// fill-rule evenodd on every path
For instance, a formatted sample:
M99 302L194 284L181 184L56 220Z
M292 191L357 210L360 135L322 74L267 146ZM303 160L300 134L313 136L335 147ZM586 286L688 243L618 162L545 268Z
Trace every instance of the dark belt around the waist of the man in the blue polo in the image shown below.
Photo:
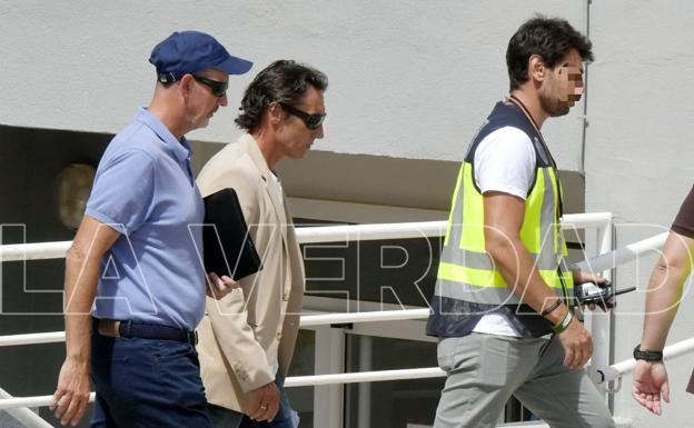
M178 327L140 324L137 321L118 321L115 319L97 319L99 335L106 337L123 337L140 339L175 340L196 346L198 332Z

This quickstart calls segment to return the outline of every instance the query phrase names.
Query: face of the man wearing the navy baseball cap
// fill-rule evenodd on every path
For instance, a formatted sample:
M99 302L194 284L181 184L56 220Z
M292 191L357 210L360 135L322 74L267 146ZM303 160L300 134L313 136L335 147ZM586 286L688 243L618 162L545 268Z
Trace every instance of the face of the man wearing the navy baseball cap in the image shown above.
M187 100L187 121L191 130L207 127L217 109L227 104L226 92L221 97L214 92L217 82L229 82L229 74L219 70L205 70L196 76L198 78L191 78Z

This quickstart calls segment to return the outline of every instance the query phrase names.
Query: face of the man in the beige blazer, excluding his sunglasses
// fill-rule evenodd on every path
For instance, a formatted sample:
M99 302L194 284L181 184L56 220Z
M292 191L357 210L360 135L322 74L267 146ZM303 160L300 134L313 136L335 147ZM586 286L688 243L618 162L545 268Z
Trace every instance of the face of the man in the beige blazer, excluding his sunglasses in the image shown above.
M293 107L309 115L325 113L323 92L309 87L300 102ZM277 129L277 142L282 157L303 158L317 138L323 138L323 125L311 130L303 119L285 111L282 122Z

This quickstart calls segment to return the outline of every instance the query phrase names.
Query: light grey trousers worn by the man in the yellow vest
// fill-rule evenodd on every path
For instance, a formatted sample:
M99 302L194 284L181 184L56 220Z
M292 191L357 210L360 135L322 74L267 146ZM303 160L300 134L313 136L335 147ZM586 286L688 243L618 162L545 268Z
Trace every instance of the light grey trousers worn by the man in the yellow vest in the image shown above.
M564 367L552 339L518 339L473 332L438 344L438 366L448 375L435 428L494 428L512 395L552 428L614 428L585 369Z

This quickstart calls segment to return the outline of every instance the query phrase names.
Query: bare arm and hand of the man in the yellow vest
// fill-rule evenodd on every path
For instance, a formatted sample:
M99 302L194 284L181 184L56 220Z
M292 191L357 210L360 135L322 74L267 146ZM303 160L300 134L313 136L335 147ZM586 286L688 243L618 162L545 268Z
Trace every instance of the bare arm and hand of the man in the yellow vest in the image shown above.
M558 299L545 283L533 257L520 240L525 205L523 199L498 191L484 195L486 250L494 259L502 277L516 296L537 312L542 312ZM559 324L568 307L559 307L547 315L552 325ZM564 365L582 367L593 354L593 341L583 325L573 320L569 327L558 335L564 347Z

